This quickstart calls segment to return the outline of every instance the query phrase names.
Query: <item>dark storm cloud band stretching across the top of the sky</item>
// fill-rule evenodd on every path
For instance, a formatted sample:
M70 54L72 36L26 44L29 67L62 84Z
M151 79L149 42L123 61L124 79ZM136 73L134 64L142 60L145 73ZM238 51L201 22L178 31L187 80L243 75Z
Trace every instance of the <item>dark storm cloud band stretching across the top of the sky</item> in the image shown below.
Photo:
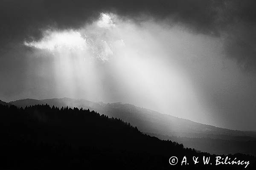
M255 0L2 0L0 45L38 39L45 28L79 28L100 12L113 12L134 20L164 19L194 33L222 36L228 57L256 68L255 8Z

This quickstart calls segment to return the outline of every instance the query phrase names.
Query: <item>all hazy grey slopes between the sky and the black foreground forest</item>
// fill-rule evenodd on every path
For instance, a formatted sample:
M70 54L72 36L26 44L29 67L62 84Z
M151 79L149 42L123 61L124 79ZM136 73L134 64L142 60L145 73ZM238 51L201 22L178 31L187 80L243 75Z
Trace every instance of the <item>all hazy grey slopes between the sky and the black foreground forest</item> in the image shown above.
M122 104L120 102L106 104L70 98L22 99L10 103L23 108L27 105L35 104L55 105L59 108L62 106L89 108L109 117L120 118L125 122L130 122L131 125L137 126L143 133L150 133L151 136L183 143L185 147L195 148L196 150L212 154L244 153L256 156L255 132L204 125L130 104Z

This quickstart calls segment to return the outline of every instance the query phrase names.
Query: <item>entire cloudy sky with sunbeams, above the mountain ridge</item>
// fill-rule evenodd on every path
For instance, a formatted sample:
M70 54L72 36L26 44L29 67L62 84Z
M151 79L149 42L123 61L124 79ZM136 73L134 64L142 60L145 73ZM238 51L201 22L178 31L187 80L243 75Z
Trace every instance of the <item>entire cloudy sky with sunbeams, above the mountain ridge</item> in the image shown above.
M253 0L3 0L0 99L123 102L256 130Z

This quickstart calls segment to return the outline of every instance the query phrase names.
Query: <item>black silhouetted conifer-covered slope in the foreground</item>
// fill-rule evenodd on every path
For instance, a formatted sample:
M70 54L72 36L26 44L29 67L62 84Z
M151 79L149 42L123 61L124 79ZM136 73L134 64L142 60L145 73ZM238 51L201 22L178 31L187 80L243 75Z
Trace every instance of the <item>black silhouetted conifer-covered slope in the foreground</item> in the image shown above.
M181 160L171 166L171 156L215 157L145 135L120 119L78 108L35 105L23 109L0 104L0 125L0 167L6 169L173 169L181 167ZM252 156L230 155L234 157L250 161L247 169L255 166ZM216 168L189 162L182 167ZM243 169L244 165L217 167Z

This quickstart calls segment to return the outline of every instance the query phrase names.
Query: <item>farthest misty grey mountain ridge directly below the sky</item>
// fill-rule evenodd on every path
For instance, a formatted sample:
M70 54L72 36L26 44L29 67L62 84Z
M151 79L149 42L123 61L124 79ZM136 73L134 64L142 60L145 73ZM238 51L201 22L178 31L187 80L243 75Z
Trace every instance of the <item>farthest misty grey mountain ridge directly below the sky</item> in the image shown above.
M156 133L168 136L185 137L210 137L223 139L223 136L253 136L255 132L243 132L239 130L229 130L211 125L192 122L187 119L158 113L149 109L140 108L130 104L90 102L84 99L44 99L33 100L24 99L11 102L14 105L25 107L26 105L49 104L59 108L62 106L89 108L99 113L104 113L109 117L116 117L130 122L146 133Z

